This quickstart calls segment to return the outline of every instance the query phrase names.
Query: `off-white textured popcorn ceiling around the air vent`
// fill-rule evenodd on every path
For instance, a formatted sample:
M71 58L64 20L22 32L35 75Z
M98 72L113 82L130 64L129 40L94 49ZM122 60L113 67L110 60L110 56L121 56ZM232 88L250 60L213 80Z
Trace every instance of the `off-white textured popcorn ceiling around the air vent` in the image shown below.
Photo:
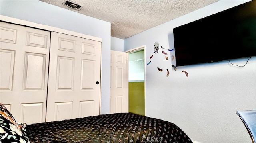
M126 39L218 0L72 0L82 5L75 10L65 0L40 0L111 23L111 36Z

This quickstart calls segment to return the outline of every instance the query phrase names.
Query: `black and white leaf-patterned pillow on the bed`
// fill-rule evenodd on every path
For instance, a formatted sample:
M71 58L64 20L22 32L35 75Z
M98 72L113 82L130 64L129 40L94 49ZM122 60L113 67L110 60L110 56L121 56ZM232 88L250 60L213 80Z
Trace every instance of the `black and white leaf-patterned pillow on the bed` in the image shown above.
M0 103L0 142L30 143L24 127L26 124L18 125L12 114Z

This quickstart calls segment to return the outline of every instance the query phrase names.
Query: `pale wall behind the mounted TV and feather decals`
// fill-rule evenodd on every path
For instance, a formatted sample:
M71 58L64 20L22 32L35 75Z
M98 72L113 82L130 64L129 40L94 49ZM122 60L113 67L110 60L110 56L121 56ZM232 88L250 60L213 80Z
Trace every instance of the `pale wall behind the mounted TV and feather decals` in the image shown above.
M256 57L245 67L228 61L171 67L154 43L174 47L174 27L198 20L247 1L221 0L165 24L124 39L124 51L146 45L146 116L178 125L194 141L202 143L250 143L250 136L236 110L256 108ZM161 50L161 48L160 48ZM175 55L174 52L170 52ZM154 55L152 59L150 56ZM170 58L170 55L168 55ZM248 58L232 60L244 65ZM157 67L163 69L162 72ZM166 69L170 75L166 77ZM188 72L188 77L182 71Z

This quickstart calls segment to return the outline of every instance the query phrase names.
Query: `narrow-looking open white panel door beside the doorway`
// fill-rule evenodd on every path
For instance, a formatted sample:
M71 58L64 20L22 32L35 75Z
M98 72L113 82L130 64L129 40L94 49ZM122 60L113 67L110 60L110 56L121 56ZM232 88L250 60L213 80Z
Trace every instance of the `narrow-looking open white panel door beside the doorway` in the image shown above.
M110 113L128 112L128 53L111 50Z

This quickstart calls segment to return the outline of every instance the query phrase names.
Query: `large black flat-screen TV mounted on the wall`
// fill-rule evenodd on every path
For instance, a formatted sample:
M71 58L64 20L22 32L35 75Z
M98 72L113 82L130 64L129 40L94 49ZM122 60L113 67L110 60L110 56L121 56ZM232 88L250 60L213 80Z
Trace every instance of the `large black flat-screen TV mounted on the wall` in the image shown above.
M256 56L256 0L173 29L176 66Z

